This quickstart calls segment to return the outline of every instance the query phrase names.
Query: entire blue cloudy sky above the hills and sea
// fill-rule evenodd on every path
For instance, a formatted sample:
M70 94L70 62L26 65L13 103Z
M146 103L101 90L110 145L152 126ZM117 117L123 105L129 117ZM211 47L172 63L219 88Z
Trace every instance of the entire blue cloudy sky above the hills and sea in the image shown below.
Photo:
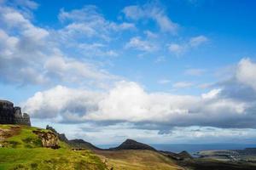
M255 144L255 8L0 0L0 98L98 145Z

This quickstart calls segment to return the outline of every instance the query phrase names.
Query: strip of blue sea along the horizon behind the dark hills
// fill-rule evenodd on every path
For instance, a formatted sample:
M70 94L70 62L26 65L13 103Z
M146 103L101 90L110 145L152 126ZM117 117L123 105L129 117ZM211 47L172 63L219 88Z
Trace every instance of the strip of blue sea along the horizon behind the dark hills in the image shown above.
M243 150L245 148L256 148L255 144L149 144L156 150L165 150L179 153L183 150L189 152L190 155L194 156L196 152L201 150ZM116 147L118 144L111 145L98 145L103 149Z

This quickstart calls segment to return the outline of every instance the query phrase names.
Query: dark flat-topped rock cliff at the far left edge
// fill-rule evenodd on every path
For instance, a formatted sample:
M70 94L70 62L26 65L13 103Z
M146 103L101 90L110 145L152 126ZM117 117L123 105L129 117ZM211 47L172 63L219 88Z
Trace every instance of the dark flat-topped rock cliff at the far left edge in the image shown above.
M2 99L0 99L0 124L31 126L28 114L22 114L20 107L14 107L12 102Z

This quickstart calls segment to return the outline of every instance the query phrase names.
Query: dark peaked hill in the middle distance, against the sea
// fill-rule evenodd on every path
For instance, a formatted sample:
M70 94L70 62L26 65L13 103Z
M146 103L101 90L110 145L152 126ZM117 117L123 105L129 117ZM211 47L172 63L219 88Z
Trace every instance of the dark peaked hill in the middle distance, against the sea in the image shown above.
M149 146L148 144L143 144L133 139L126 139L125 142L120 144L118 147L110 148L109 150L154 150L156 151L153 147Z

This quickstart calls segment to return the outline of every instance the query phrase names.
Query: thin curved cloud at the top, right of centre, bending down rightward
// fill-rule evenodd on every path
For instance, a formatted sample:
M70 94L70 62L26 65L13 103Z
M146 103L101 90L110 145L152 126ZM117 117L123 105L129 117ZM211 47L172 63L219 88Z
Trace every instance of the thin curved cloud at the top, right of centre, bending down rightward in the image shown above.
M153 3L147 3L143 6L132 5L123 9L123 13L127 19L131 20L154 20L161 31L177 33L178 25L174 23L165 13L163 8Z

